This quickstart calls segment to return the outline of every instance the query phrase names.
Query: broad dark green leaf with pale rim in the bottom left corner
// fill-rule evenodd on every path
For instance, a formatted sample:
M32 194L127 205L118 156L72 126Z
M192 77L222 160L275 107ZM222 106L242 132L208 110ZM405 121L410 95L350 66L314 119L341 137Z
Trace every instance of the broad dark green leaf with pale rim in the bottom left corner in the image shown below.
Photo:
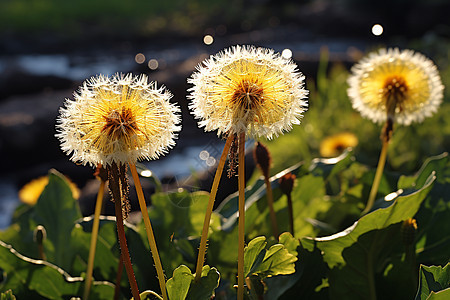
M51 263L23 256L2 241L0 268L6 273L0 292L12 289L19 299L67 299L82 293L83 278L71 277ZM112 299L113 294L110 283L95 282L92 286L96 299Z

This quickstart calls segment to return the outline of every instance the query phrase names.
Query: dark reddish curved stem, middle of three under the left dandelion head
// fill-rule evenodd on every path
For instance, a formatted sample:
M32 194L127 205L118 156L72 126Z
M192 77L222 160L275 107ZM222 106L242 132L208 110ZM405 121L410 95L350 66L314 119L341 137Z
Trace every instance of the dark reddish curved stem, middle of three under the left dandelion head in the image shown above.
M116 224L117 233L119 237L120 250L122 253L123 263L125 265L125 270L127 271L128 281L131 286L131 293L134 299L140 299L139 289L136 282L136 277L134 276L133 267L131 266L130 253L128 252L127 239L125 237L125 230L123 225L122 217L122 204L121 199L114 199L114 207L116 210Z

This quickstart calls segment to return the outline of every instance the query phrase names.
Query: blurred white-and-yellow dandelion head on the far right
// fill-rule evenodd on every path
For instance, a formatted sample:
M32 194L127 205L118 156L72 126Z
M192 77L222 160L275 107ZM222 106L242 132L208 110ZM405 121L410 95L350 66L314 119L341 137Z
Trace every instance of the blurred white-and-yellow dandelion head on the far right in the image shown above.
M431 60L411 50L380 49L353 66L348 79L353 108L373 122L409 125L435 113L444 86Z

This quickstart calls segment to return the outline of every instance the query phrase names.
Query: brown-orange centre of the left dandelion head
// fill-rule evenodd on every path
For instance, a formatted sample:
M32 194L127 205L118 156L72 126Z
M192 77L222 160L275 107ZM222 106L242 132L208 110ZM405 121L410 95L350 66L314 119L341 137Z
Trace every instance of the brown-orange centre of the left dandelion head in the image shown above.
M136 131L139 131L130 108L122 107L121 110L113 109L104 118L106 123L102 132L113 140L129 138Z

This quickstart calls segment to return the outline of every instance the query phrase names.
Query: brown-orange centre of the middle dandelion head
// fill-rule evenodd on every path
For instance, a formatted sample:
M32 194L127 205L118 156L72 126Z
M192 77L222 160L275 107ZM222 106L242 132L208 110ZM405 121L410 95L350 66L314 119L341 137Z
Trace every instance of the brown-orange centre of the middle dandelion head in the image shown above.
M242 80L231 97L231 102L245 111L258 108L264 102L264 89L255 82Z

